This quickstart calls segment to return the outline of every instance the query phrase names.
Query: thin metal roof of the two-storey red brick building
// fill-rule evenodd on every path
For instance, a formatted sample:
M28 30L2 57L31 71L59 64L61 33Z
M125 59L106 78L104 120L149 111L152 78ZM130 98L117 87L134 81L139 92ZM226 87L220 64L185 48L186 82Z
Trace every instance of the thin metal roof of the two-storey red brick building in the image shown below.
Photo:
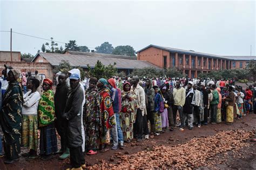
M182 49L175 49L175 48L172 48L172 47L165 47L165 46L159 46L159 45L149 45L149 46L146 46L145 48L143 48L142 50L139 50L137 51L136 53L140 52L140 51L143 51L149 47L156 47L156 48L159 48L159 49L163 49L163 50L166 50L166 51L170 51L170 52L180 52L180 53L185 53L185 54L188 54L188 55L194 55L194 56L204 56L204 57L211 57L211 58L220 58L220 59L231 59L231 60L250 60L248 59L249 56L245 57L245 56L218 56L218 55L211 55L211 54L208 54L208 53L203 53L203 52L196 52L196 51L193 51L193 50L182 50ZM256 59L255 56L250 56L252 57L251 59Z

